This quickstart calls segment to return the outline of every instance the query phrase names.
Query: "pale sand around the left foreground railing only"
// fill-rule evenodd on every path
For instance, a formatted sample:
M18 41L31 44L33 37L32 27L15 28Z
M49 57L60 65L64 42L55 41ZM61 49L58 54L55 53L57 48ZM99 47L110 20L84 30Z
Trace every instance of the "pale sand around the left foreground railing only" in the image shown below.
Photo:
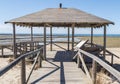
M0 58L0 69L7 66L9 64L10 58ZM26 73L28 74L30 72L31 65L27 65L26 67ZM11 70L9 70L6 74L4 74L2 77L0 77L0 84L21 84L21 67L20 63L13 67Z

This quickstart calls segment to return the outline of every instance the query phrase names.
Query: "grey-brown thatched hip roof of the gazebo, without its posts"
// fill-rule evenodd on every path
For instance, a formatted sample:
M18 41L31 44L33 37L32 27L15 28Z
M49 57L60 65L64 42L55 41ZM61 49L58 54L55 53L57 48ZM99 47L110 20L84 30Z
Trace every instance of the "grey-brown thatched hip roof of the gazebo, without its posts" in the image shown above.
M15 23L19 26L44 26L49 24L54 27L68 27L74 24L76 27L101 27L113 22L88 14L74 8L48 8L36 13L25 15L6 23Z

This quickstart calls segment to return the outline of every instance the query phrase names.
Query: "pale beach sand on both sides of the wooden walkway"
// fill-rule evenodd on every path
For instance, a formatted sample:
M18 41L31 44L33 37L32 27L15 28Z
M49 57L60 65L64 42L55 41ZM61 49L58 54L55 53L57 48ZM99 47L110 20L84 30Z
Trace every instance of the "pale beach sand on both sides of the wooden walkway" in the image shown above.
M57 47L54 47L54 49L59 49ZM111 52L116 54L120 57L120 48L108 48ZM7 50L6 50L7 52ZM110 57L107 57L108 60L110 60ZM0 69L7 66L9 64L9 58L0 58ZM114 58L114 64L120 65L120 59ZM26 73L28 74L30 72L32 65L27 65L26 67ZM119 67L120 68L120 67ZM98 77L101 77L101 80L104 81L103 84L119 84L116 81L112 81L110 77L104 75L104 74L98 74ZM20 64L16 65L14 68L12 68L10 71L8 71L6 74L4 74L2 77L0 77L0 84L20 84Z

